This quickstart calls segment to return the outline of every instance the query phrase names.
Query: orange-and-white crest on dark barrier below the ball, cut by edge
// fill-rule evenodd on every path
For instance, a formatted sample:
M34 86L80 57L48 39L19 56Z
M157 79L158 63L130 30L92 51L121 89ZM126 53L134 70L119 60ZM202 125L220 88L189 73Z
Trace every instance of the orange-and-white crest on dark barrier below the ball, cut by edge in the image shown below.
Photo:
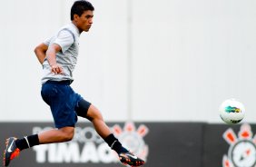
M222 167L256 167L256 135L252 136L251 126L241 125L238 136L230 128L223 133L230 144L228 155L222 159Z

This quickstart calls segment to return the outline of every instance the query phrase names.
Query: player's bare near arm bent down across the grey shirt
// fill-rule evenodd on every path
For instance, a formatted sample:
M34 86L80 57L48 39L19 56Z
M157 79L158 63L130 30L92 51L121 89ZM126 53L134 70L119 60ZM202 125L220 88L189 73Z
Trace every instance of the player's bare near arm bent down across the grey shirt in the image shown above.
M62 66L56 62L56 53L60 52L61 50L62 47L59 44L51 44L46 51L46 59L54 74L63 74Z

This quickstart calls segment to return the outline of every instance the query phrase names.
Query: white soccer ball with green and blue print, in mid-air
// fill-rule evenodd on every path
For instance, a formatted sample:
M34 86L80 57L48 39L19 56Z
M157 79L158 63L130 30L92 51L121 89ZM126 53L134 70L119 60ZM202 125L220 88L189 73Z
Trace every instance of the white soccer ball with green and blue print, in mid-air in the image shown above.
M225 100L219 110L225 123L240 123L244 118L244 105L235 99Z

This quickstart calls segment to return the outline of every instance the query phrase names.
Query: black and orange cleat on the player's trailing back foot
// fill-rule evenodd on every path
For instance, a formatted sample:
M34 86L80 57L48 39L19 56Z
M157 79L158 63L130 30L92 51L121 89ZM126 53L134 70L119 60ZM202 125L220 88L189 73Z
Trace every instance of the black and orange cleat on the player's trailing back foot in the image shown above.
M15 137L10 137L5 141L6 149L4 151L4 166L8 166L11 160L17 157L20 153L20 149L16 147L15 140L17 140Z

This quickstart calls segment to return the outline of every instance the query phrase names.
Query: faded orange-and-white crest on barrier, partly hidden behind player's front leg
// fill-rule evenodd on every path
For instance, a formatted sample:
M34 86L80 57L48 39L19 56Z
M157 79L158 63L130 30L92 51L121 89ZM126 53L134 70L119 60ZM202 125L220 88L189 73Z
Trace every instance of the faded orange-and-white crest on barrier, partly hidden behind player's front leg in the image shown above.
M123 146L129 148L138 157L146 161L149 149L145 144L143 137L149 132L149 129L141 124L136 129L134 123L125 123L123 129L120 125L113 125L114 135L122 142Z

